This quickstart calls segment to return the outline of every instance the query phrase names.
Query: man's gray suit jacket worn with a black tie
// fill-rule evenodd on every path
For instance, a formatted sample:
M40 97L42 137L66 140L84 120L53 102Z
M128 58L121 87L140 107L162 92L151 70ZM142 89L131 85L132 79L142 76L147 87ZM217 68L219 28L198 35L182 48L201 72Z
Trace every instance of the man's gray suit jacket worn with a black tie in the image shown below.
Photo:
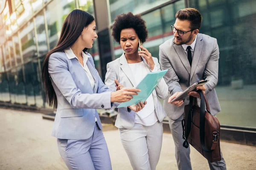
M190 66L182 45L175 45L174 38L167 40L159 46L159 58L162 69L169 69L164 79L169 88L169 96L177 91L183 91L195 82L208 79L206 96L212 115L221 111L215 87L218 84L219 49L217 40L205 34L198 34L194 48L192 65ZM180 107L164 101L164 109L169 118L176 120L184 112L184 105L189 103L186 97Z

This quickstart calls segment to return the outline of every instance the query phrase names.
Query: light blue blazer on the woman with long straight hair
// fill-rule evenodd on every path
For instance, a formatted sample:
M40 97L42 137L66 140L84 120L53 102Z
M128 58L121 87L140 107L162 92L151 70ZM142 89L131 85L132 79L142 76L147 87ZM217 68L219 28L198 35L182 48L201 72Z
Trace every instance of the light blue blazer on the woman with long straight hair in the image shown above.
M87 66L95 79L94 89L78 59L68 59L64 52L49 57L49 76L58 100L52 136L58 139L90 138L95 118L102 129L96 109L111 108L111 90L99 77L92 57L88 58Z

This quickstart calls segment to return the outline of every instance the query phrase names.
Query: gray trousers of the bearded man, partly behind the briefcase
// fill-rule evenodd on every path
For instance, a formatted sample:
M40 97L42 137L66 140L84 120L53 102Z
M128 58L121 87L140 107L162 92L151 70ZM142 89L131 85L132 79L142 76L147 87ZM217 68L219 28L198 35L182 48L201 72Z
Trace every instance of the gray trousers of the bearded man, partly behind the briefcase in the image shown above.
M172 120L169 118L169 126L172 132L172 137L175 143L175 157L179 170L192 170L190 161L190 147L183 147L184 139L182 139L183 129L181 121L183 115L177 120ZM221 153L221 161L216 161L210 163L208 161L210 170L226 170L226 163Z

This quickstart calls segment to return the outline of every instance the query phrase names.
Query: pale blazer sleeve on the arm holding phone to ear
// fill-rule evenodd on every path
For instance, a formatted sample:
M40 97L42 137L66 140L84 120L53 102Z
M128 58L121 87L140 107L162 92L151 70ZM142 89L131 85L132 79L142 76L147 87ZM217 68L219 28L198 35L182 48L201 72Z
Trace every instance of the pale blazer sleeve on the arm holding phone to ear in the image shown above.
M155 61L154 61L155 66L154 66L154 69L152 70L152 72L161 71L160 64L158 63L158 59L157 58L154 58L154 59L155 59ZM166 82L164 81L163 78L158 83L158 85L156 87L156 92L157 92L157 96L160 99L166 99L168 97L168 86L166 85Z

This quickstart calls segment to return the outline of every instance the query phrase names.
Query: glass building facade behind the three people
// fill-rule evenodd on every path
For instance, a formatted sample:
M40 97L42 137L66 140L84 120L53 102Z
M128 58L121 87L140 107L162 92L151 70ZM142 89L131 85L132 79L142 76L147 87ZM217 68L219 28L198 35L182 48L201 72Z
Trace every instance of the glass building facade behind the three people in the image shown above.
M102 2L105 3L102 3ZM106 4L106 5L105 5ZM144 43L158 57L159 45L173 37L175 13L185 7L203 15L200 33L218 40L220 59L216 91L222 125L256 127L256 1L255 0L7 0L0 4L0 103L49 108L44 99L41 67L58 42L64 19L73 9L108 22L90 49L96 69L105 78L106 64L122 55L111 35L118 14L141 14L148 28ZM100 17L96 17L99 26ZM101 26L102 27L102 26ZM51 108L50 108L51 109Z

